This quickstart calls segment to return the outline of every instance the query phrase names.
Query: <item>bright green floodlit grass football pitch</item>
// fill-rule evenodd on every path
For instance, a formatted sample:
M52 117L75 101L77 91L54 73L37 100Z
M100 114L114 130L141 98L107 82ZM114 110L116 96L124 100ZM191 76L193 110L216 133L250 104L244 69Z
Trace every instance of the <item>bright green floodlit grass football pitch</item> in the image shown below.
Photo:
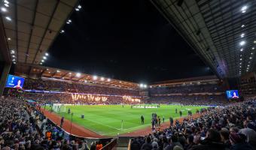
M182 115L187 116L187 110L191 109L192 113L200 110L203 107L181 106L177 105L162 105L160 108L133 108L130 105L87 105L87 106L66 106L66 112L56 113L71 120L71 114L68 114L68 109L74 113L72 122L79 124L89 130L93 130L100 135L115 136L118 133L128 133L133 130L142 129L151 126L151 114L157 113L161 120L164 116L165 122L169 121L169 117L179 118L179 114L175 113L175 108L183 110ZM50 109L48 107L48 109ZM84 119L81 118L84 114ZM145 124L141 124L141 115L144 115ZM121 121L123 120L123 129ZM163 121L162 121L163 122Z

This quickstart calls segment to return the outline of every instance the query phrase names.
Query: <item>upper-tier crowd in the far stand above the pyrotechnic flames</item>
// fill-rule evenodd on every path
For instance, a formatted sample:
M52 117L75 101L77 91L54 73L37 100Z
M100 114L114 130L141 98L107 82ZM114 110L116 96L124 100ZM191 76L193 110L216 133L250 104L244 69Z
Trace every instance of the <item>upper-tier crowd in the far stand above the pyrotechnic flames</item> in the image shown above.
M139 91L134 89L120 89L110 86L89 85L82 83L70 83L58 80L34 80L26 79L23 89L77 92L92 95L129 95L139 96Z

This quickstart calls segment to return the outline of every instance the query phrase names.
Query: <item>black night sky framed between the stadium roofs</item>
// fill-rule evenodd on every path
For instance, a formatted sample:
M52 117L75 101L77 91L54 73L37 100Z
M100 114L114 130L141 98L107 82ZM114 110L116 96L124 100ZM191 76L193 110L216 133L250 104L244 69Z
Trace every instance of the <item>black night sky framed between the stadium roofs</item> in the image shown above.
M45 65L138 83L211 75L149 0L81 1Z

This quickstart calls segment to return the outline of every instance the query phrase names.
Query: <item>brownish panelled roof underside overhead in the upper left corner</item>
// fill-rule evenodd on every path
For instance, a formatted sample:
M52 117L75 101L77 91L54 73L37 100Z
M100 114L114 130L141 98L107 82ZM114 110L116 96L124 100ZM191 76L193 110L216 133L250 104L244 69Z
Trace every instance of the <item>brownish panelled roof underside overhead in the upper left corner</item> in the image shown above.
M40 64L78 0L1 1L1 20L11 59Z

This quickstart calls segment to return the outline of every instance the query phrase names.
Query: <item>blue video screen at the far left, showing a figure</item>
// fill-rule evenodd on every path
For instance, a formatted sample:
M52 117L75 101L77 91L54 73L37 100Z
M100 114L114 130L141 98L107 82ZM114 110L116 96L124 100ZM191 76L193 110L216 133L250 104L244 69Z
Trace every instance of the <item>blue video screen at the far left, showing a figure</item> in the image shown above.
M25 79L23 77L17 77L9 74L5 87L14 88L14 89L23 89L24 80Z

